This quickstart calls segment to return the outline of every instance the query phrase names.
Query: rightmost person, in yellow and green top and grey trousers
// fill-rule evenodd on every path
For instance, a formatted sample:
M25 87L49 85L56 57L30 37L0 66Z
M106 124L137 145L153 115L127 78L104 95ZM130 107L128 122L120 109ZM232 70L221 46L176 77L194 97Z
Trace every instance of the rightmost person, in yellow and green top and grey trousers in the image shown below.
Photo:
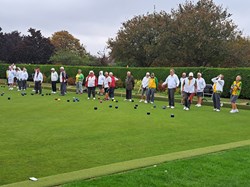
M231 105L232 105L232 110L230 113L236 113L239 112L236 106L236 100L238 99L240 92L241 92L241 87L242 87L242 82L241 82L241 76L238 75L231 85Z

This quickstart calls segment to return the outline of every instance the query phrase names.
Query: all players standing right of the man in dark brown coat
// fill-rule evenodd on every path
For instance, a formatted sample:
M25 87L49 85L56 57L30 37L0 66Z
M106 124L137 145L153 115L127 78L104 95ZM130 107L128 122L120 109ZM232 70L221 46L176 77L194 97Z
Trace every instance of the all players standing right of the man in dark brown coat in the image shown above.
M217 77L211 79L213 82L213 105L214 111L220 112L221 108L221 99L220 95L223 92L223 87L225 84L224 75L220 74ZM173 109L175 108L175 92L176 89L180 85L180 92L182 96L182 104L184 105L183 110L190 110L190 106L193 100L193 97L197 96L197 104L196 107L201 107L202 99L204 96L204 89L206 87L206 82L204 78L202 78L201 73L197 73L197 78L194 78L193 72L190 72L188 76L186 73L183 72L181 78L179 79L178 76L175 74L174 69L170 69L170 73L166 80L163 82L162 87L167 87L168 90L168 107ZM147 72L145 77L142 79L141 84L141 100L140 102L145 103L154 103L154 93L156 88L158 87L158 80L155 77L154 73ZM236 106L236 100L238 99L242 88L241 76L237 76L236 80L231 85L231 105L232 109L230 113L239 112Z

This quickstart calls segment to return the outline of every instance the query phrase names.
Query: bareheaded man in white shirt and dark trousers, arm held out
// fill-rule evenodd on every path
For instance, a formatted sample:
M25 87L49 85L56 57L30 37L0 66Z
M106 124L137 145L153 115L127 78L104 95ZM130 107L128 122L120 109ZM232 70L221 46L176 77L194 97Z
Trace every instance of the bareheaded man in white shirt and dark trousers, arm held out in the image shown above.
M174 73L174 69L170 69L170 75L166 78L165 82L162 84L164 87L167 85L168 87L168 102L170 108L174 108L174 92L176 88L179 86L180 81L178 76Z

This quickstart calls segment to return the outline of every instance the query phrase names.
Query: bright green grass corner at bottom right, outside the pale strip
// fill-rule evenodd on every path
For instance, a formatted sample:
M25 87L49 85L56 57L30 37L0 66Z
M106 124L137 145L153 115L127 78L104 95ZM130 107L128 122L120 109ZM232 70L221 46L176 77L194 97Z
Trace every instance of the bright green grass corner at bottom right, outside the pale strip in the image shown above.
M250 147L177 160L156 167L105 176L64 187L241 186L250 185Z

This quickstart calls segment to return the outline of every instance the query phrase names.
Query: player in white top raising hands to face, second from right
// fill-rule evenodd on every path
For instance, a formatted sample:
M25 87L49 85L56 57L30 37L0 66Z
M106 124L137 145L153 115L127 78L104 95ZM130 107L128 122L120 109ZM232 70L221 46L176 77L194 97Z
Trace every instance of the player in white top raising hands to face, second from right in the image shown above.
M214 104L214 111L220 112L220 95L223 92L223 87L225 84L224 81L224 75L220 74L217 77L214 77L211 79L211 81L214 83L213 84L213 104Z

